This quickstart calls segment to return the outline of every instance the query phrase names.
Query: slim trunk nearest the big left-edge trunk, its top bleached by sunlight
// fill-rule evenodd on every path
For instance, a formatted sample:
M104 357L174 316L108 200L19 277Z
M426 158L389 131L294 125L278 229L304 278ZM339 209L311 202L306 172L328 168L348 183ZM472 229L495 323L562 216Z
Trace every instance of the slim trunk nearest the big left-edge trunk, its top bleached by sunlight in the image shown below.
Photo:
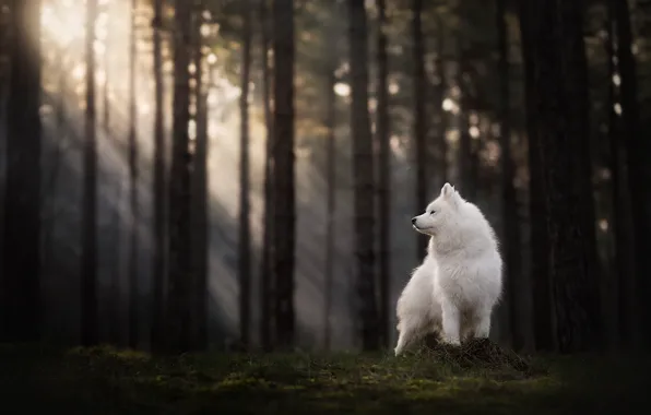
M86 2L86 114L82 206L82 344L98 342L97 308L97 139L95 114L95 22L97 0Z

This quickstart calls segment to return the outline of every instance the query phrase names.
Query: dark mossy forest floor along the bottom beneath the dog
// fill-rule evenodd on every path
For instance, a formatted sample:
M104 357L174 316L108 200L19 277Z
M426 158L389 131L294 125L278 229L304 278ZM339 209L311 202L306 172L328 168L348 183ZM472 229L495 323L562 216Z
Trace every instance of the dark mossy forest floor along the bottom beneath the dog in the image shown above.
M463 349L151 357L0 346L0 413L627 414L649 407L651 358Z

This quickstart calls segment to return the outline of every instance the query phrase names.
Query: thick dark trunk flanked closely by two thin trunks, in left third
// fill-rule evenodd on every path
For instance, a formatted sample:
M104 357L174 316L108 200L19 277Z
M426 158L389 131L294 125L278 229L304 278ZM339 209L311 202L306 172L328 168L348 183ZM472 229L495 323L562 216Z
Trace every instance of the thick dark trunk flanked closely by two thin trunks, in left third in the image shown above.
M174 119L171 173L169 177L169 296L165 318L167 349L182 353L191 348L192 256L191 256L191 166L188 123L190 120L191 3L175 1Z

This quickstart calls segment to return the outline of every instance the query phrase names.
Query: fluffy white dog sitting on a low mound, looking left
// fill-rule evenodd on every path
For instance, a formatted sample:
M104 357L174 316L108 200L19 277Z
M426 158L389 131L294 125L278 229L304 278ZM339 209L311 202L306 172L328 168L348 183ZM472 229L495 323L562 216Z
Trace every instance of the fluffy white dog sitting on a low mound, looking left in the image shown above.
M446 183L412 225L430 238L425 260L398 300L395 356L428 333L453 345L488 337L502 285L502 262L488 221Z

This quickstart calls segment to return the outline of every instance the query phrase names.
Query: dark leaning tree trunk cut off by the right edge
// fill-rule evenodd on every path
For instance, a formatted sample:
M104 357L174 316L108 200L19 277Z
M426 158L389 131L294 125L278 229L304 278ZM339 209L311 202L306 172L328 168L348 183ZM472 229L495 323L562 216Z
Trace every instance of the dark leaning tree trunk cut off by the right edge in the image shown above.
M651 244L651 143L640 129L640 106L638 103L638 81L636 61L632 56L632 34L630 27L630 11L628 1L617 1L615 4L617 22L617 58L622 78L623 126L628 161L628 188L630 190L630 205L632 211L635 238L635 292L636 316L640 339L644 346L651 346L651 258L647 251ZM630 301L631 299L628 298ZM638 325L638 324L636 324Z

